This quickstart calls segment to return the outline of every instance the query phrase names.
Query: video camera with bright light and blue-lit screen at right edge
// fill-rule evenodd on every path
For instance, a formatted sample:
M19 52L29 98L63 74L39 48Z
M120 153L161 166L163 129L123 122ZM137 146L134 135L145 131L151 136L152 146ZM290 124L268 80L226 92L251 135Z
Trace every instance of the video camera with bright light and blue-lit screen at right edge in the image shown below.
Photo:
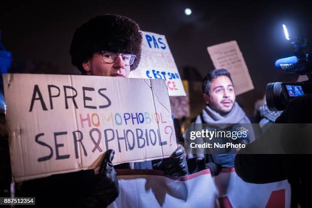
M285 37L290 40L286 26L283 24ZM312 93L312 63L310 44L302 37L292 38L295 46L293 57L278 59L276 68L284 69L286 73L307 75L308 80L297 83L269 83L266 89L267 105L270 111L281 111L287 108L294 97Z

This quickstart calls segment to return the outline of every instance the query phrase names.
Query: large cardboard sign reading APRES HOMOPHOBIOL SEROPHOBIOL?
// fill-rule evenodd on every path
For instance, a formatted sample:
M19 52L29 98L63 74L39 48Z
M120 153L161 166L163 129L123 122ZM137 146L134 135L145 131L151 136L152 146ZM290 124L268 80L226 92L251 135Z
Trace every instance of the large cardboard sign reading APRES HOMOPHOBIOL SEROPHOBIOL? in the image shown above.
M16 181L160 159L176 149L166 84L123 77L4 74Z

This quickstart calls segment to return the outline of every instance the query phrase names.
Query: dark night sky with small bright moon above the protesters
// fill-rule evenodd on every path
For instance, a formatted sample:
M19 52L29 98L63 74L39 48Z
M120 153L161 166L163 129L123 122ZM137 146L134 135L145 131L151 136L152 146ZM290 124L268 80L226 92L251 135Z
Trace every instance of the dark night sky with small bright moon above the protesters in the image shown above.
M296 32L301 30L307 41L312 41L312 6L294 1L210 2L38 1L30 4L3 1L0 6L2 43L11 51L16 68L40 62L48 65L46 73L79 74L69 56L75 29L94 16L119 14L135 20L142 31L165 35L182 76L186 66L195 67L204 76L214 69L207 46L236 40L255 87L237 100L251 114L254 101L264 95L267 83L296 81L297 75L274 68L276 59L293 56L294 51L293 45L284 38L282 24ZM185 8L192 9L191 16L184 14ZM27 70L25 72L29 72Z

